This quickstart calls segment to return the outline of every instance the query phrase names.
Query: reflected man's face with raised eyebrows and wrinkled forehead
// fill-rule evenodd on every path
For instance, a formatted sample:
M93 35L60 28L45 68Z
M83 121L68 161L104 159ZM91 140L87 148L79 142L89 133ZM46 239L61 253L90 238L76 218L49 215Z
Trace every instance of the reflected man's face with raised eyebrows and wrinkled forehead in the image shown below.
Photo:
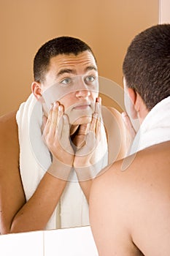
M41 89L46 105L58 100L64 106L70 124L89 123L98 97L98 72L92 53L86 50L77 56L62 54L50 59Z

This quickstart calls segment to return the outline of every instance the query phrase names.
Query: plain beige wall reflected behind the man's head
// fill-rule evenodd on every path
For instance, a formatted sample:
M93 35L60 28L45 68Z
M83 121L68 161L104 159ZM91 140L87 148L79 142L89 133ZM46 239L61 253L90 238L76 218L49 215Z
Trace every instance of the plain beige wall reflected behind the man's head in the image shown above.
M158 2L0 0L0 115L26 100L31 93L36 50L61 35L88 42L98 59L100 75L122 85L125 50L139 31L158 23Z

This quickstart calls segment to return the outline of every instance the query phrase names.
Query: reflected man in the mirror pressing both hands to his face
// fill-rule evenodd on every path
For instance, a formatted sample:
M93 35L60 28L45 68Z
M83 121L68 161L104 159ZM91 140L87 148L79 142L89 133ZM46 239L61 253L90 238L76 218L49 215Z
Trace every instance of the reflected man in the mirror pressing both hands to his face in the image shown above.
M88 225L94 176L125 154L125 127L111 108L102 110L106 137L96 59L85 42L42 45L31 89L17 123L16 113L1 117L1 234Z

